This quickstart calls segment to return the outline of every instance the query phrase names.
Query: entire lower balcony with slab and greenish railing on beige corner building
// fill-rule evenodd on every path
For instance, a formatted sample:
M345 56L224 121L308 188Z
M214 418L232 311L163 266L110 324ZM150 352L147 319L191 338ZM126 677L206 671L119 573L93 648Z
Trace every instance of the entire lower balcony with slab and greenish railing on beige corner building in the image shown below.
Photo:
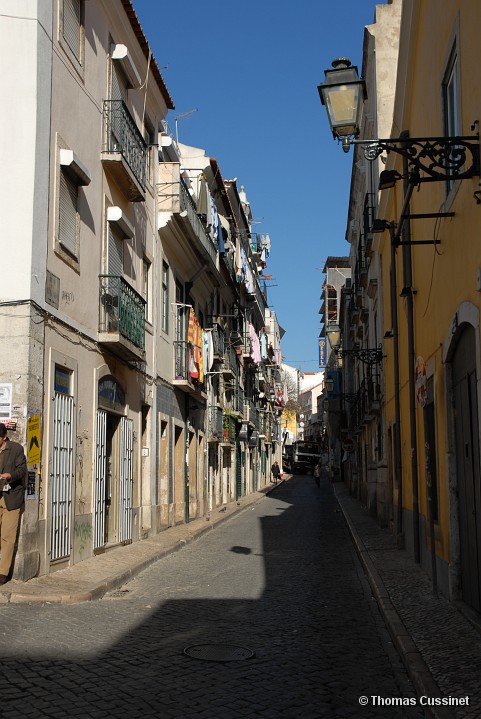
M145 300L123 277L99 276L99 343L134 362L145 361Z

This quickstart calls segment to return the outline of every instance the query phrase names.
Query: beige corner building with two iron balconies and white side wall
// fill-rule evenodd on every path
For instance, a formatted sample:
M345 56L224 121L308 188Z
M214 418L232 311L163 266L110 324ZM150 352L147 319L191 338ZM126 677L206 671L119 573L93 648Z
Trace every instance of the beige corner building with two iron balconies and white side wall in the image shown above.
M0 35L2 132L22 136L3 161L15 250L3 266L0 332L12 351L0 381L14 436L24 441L33 418L41 440L40 458L27 447L15 562L28 579L154 529L148 227L173 103L129 0L27 0L20 15L7 2Z

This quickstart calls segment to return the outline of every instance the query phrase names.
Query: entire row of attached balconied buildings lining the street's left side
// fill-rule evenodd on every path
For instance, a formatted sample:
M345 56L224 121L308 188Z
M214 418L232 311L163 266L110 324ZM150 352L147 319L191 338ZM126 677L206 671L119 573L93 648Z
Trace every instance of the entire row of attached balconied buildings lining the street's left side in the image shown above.
M2 174L0 385L12 436L39 428L14 575L29 579L262 486L281 331L270 243L235 180L173 139L132 2L24 8L0 18L3 136L23 137Z

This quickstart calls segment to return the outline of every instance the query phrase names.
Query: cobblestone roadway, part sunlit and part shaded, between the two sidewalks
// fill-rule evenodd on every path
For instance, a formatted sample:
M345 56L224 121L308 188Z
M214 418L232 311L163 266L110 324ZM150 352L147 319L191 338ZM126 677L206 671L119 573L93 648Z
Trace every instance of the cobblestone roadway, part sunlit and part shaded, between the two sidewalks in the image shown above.
M312 477L100 601L2 604L0 621L2 719L425 716L333 487ZM255 654L184 653L207 644Z

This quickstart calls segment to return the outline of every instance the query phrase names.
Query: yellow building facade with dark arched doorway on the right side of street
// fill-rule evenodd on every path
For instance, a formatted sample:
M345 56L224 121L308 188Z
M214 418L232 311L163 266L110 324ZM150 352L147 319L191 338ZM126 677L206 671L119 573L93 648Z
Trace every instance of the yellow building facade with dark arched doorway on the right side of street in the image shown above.
M424 169L415 178L402 155L386 154L384 168L402 178L380 191L378 218L391 223L391 231L374 240L384 307L393 521L396 516L402 521L406 547L433 573L441 591L476 612L481 611L481 194L476 167L481 78L475 72L480 31L479 0L404 0L392 137L404 132L411 138L470 137L457 172L473 176L449 179L446 157L452 168L458 150L464 152L461 142L444 158L437 150L425 153L424 167L439 168L440 175L447 171L447 180L427 181Z

